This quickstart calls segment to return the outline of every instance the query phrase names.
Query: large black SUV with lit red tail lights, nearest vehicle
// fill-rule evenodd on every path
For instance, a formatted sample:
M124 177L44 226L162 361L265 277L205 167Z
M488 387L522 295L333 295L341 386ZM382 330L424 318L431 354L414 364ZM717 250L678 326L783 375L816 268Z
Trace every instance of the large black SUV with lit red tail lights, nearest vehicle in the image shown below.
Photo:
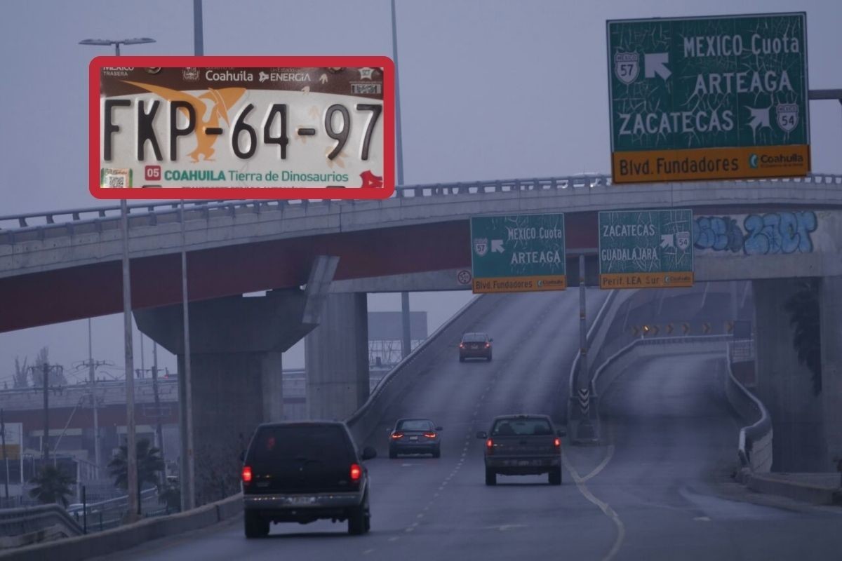
M269 534L269 522L348 521L350 534L369 531L369 479L342 422L260 425L242 460L246 537Z

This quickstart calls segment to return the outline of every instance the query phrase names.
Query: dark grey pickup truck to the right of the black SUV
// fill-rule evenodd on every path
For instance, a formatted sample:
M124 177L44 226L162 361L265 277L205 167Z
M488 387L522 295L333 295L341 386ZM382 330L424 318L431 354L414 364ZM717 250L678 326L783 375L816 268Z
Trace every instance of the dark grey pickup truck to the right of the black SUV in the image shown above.
M551 485L562 484L562 439L546 415L500 415L491 430L477 432L485 439L485 484L496 485L497 475L548 474Z

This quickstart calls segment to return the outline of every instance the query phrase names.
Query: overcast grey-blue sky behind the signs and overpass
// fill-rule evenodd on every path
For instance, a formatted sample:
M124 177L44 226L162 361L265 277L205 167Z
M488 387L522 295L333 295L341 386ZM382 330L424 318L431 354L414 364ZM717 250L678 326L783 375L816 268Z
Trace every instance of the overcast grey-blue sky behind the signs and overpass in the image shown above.
M112 50L77 43L147 36L157 43L123 54L191 55L192 5L3 2L0 215L107 204L93 199L86 183L86 98L88 62ZM389 6L205 0L205 54L392 56ZM606 19L792 9L807 12L810 87L842 87L840 0L397 0L405 182L609 172ZM813 102L810 113L813 170L842 172L839 103ZM432 330L467 298L418 295L413 307L429 310ZM398 310L399 301L370 298L370 310ZM119 316L93 325L94 356L122 364ZM42 346L71 367L87 357L86 322L0 335L0 387L16 355L31 361ZM300 354L286 363L301 366ZM174 366L171 356L163 363Z

